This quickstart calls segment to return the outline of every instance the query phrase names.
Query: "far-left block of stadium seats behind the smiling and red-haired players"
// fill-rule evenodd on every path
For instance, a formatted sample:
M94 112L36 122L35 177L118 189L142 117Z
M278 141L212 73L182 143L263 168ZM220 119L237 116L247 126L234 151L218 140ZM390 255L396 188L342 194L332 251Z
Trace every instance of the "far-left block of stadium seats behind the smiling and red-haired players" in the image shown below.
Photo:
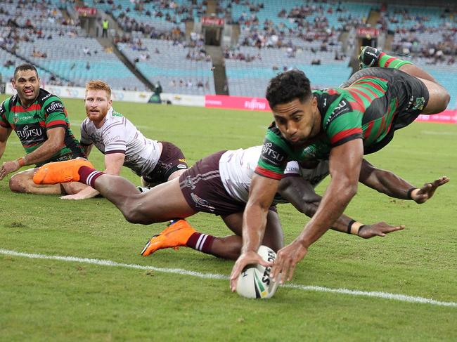
M63 14L52 4L47 8L44 4L18 8L18 3L13 1L0 7L8 13L0 14L0 21L15 20L16 24L1 28L7 32L13 29L17 37L27 37L27 41L15 39L4 47L11 51L14 46L15 55L22 63L33 63L54 74L56 79L67 80L56 83L84 86L90 79L104 79L112 88L146 89L114 53L104 51L96 39L85 37L81 27L65 22ZM85 48L89 53L84 52ZM53 83L51 79L49 82Z

